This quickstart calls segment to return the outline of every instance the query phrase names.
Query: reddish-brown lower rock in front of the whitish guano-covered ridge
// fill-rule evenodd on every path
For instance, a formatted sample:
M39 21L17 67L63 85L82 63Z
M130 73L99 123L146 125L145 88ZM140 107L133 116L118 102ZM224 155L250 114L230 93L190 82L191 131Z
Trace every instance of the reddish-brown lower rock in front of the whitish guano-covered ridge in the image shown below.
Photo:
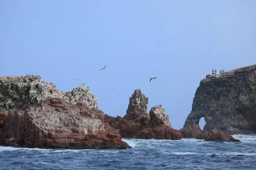
M52 98L26 111L10 112L3 125L0 144L6 139L26 147L68 149L126 149L119 130L105 123L102 111L77 102Z

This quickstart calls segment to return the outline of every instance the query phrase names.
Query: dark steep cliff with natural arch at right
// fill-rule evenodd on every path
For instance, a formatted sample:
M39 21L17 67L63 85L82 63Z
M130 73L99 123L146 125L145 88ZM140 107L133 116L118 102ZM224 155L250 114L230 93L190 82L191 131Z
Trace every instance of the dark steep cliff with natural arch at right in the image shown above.
M203 132L256 133L256 65L201 80L183 127L198 125L201 117L206 122Z

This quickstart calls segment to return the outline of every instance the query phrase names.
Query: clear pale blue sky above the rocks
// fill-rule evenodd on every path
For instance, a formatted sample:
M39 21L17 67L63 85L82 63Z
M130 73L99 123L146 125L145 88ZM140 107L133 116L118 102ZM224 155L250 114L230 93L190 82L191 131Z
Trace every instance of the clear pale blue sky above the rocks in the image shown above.
M0 0L0 76L40 75L64 91L84 82L111 116L124 116L140 88L148 112L161 104L180 129L212 69L256 64L255 9L256 0Z

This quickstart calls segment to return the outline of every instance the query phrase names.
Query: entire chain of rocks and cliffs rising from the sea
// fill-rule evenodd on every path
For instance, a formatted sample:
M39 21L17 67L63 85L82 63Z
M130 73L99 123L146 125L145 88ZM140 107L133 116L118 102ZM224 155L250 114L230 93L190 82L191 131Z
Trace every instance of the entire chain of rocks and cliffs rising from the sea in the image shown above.
M241 142L230 134L256 133L256 65L207 75L183 129L172 128L161 105L135 89L126 115L109 116L80 85L58 91L38 75L0 77L0 145L64 149L127 149L125 139L205 139ZM205 118L204 130L199 119Z

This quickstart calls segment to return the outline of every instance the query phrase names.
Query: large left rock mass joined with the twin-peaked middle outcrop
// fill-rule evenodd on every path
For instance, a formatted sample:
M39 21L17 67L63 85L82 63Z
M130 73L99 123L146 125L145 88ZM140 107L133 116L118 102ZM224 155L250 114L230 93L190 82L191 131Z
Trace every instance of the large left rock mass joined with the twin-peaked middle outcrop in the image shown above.
M58 91L38 75L0 77L0 144L39 148L126 149L121 138L181 139L161 105L147 113L136 89L126 115L98 109L89 88ZM13 139L13 140L9 140Z

